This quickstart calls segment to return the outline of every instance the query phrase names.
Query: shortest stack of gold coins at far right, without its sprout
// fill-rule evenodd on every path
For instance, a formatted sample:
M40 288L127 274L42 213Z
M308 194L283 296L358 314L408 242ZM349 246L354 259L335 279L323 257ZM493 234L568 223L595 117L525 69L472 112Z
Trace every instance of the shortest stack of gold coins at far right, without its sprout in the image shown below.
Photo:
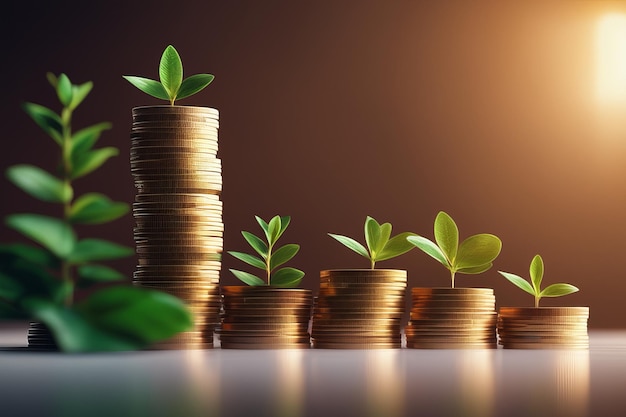
M501 307L499 343L505 349L588 349L589 307Z

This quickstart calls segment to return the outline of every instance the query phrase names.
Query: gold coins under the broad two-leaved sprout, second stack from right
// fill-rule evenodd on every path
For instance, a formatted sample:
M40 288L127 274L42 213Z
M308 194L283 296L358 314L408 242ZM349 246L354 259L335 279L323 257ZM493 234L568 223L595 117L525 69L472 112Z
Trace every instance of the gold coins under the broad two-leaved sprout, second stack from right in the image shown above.
M412 288L406 346L495 348L496 298L491 288Z

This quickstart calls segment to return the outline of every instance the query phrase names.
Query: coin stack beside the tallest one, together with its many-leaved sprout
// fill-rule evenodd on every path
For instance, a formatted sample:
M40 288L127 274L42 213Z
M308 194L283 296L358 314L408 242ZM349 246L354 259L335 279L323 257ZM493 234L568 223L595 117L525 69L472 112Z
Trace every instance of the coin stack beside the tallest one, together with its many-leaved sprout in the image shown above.
M263 278L238 269L230 271L245 286L222 287L222 324L218 333L224 349L309 348L308 332L313 296L311 290L293 288L304 272L283 265L300 250L289 243L278 247L278 239L291 222L289 216L274 216L269 222L255 216L264 238L242 231L256 252L228 253L263 271Z

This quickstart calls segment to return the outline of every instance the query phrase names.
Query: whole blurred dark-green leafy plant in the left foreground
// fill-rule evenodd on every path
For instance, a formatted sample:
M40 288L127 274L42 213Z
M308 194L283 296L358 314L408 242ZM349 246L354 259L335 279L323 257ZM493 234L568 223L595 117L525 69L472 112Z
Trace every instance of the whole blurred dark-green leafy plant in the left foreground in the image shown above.
M76 197L73 181L100 168L118 150L94 148L110 123L72 132L73 112L93 84L74 85L65 74L47 77L61 102L61 113L34 103L23 107L60 148L56 175L29 164L13 165L6 175L30 196L60 205L62 215L6 217L8 227L37 245L0 245L0 317L42 322L58 347L70 352L132 350L188 329L192 318L178 298L128 284L101 285L125 278L101 262L130 256L133 249L102 239L80 239L75 226L113 221L129 207L95 192ZM74 302L77 287L84 288L86 296Z

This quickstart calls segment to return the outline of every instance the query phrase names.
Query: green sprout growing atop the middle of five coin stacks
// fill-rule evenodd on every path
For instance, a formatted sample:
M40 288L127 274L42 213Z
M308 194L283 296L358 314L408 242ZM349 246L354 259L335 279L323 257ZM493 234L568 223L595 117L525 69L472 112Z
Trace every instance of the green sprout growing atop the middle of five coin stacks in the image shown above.
M369 259L370 267L374 269L376 262L395 258L413 249L413 245L407 242L407 238L415 236L415 233L403 232L391 237L391 223L379 224L374 218L367 216L365 218L365 243L367 248L350 237L333 233L328 235L364 258Z

